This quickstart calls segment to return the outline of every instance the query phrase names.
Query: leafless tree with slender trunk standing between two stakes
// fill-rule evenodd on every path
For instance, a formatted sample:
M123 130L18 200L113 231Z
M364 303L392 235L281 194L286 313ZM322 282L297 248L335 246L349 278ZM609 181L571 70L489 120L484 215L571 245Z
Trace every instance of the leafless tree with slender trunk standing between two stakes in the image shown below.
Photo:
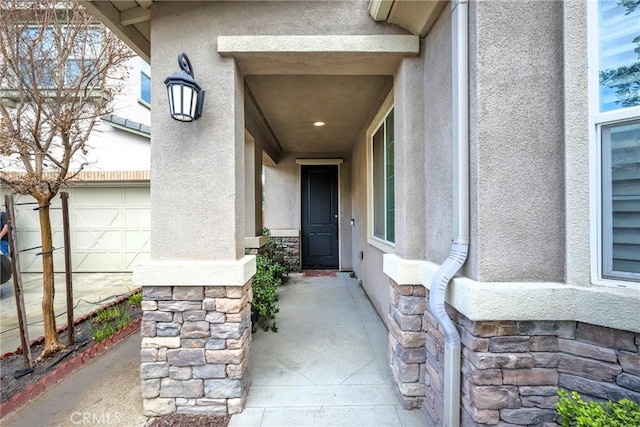
M39 205L44 357L62 348L49 203L87 164L89 135L133 53L72 0L0 1L0 14L0 183Z

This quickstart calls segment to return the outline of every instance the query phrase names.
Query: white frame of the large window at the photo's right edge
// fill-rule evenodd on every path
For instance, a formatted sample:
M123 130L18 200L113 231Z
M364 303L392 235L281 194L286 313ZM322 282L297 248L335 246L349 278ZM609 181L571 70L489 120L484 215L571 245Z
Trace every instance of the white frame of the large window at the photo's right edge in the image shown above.
M640 283L620 279L604 278L602 233L602 127L640 118L640 107L621 108L600 112L598 78L598 2L587 3L588 66L589 66L589 205L591 282L603 286L638 288Z

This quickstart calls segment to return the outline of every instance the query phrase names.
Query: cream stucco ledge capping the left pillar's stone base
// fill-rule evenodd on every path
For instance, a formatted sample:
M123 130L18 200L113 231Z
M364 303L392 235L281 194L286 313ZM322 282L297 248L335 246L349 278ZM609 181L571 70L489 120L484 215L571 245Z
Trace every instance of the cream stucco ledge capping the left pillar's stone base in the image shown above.
M239 260L149 260L133 270L135 286L244 286L256 274L256 257Z

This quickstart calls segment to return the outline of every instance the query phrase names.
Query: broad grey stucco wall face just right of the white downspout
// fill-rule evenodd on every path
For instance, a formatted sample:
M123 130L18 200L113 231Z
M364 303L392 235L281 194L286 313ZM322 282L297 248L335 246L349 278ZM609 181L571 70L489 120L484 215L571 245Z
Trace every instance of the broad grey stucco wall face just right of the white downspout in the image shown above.
M562 7L470 5L469 267L478 280L564 279Z

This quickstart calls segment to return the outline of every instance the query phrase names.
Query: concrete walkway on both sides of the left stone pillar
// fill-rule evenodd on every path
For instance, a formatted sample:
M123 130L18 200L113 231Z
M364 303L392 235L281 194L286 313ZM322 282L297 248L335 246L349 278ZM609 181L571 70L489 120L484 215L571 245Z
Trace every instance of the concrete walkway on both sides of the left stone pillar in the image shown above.
M252 385L230 427L426 426L402 409L386 357L387 330L346 273L292 275L280 288L277 333L253 335ZM135 334L2 419L3 427L142 426Z

